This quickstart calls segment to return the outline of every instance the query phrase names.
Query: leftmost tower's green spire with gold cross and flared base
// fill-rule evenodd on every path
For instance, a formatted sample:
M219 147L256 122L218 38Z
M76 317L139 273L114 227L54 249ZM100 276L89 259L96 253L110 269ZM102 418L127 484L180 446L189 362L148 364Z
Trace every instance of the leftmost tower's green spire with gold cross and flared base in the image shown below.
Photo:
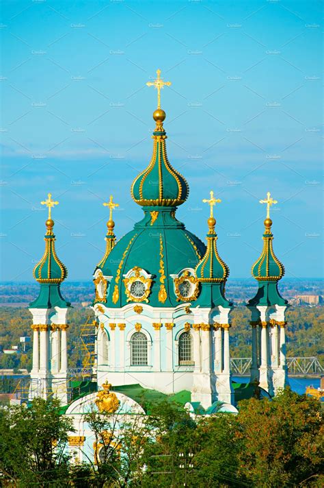
M52 200L51 193L42 202L49 211L48 219L45 222L46 234L44 236L45 250L42 258L33 269L33 277L40 283L40 295L31 304L32 308L50 308L51 306L70 306L65 302L60 292L60 284L68 276L68 270L55 251L55 234L53 233L54 221L51 217L51 209L59 202Z

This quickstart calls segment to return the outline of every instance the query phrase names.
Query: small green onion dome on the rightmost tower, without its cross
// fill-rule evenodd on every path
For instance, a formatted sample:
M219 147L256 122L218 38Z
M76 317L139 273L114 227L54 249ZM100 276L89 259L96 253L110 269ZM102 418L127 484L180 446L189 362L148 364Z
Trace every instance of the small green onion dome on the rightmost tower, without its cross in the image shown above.
M252 276L258 281L278 281L284 276L284 266L273 252L271 223L271 220L269 220L269 223L265 221L266 228L262 237L262 253L252 266Z

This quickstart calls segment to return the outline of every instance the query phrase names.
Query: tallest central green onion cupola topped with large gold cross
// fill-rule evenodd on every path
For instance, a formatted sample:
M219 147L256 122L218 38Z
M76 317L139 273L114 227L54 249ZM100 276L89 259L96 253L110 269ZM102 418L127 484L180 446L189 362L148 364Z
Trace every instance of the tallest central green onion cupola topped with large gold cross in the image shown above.
M153 112L156 123L153 132L153 154L148 167L133 181L131 195L141 206L178 206L183 204L189 194L189 186L167 159L165 146L166 132L163 128L165 111L161 109L161 90L171 82L163 82L161 70L157 70L157 79L148 82L148 86L157 88L157 110Z

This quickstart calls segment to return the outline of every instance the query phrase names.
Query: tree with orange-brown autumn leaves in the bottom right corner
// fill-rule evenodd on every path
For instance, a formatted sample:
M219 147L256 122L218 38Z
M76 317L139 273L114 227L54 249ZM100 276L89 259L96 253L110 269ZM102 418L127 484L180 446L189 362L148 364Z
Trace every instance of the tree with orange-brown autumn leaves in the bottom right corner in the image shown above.
M318 400L287 388L272 400L240 402L234 420L239 473L253 486L317 483L324 439Z

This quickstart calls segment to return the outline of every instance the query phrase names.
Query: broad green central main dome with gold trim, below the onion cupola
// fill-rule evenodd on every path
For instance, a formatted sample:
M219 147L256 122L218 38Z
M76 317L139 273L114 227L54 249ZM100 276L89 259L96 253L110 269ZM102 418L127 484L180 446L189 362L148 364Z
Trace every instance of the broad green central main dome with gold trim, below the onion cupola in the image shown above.
M144 302L151 306L176 306L179 303L174 278L184 269L194 269L205 252L205 245L175 218L175 208L144 208L144 219L116 243L101 269L112 276L106 306L122 307ZM101 264L101 263L100 263ZM141 270L149 291L145 300L132 300L128 285ZM193 273L194 274L194 273ZM126 277L125 277L126 275Z

